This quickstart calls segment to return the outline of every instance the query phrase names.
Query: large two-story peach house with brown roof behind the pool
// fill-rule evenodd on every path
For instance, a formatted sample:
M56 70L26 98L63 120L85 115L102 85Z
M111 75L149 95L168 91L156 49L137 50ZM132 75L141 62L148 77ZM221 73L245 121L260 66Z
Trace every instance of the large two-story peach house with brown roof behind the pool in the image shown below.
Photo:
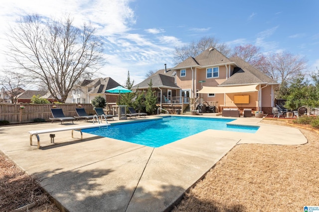
M275 90L279 88L279 83L242 59L227 58L214 48L195 58L189 57L168 71L165 67L150 78L159 74L174 81L175 87L166 88L163 86L166 82L162 81L162 86L156 87L158 95L166 94L170 104L189 104L191 108L203 103L216 106L218 111L223 108L250 108L271 113ZM148 80L133 88L140 90L140 85ZM160 100L161 107L165 107L165 99Z

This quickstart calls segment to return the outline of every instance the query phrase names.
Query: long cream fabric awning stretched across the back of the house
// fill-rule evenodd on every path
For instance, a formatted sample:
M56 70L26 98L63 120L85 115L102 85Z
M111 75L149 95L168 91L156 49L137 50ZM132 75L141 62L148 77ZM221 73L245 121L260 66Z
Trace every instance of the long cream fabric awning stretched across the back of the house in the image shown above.
M231 87L206 87L203 86L203 88L200 91L197 91L197 93L241 93L241 92L253 92L258 91L256 87L258 84L254 85L243 85L243 86L231 86Z

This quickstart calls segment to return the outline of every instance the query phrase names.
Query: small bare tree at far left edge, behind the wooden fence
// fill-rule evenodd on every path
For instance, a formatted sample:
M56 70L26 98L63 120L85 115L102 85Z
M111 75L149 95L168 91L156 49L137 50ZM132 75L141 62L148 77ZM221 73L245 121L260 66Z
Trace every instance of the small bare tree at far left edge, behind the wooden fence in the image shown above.
M8 72L0 77L1 85L9 92L10 100L12 103L17 103L17 95L21 93L23 84L23 75L17 72Z

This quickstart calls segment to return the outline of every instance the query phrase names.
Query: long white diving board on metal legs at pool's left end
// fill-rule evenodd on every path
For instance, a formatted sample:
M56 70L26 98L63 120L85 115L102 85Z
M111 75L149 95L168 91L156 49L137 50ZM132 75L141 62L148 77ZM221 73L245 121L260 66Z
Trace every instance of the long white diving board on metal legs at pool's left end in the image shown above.
M62 132L62 131L72 131L72 138L73 138L73 131L77 130L80 131L81 133L81 140L83 140L83 134L82 131L83 129L88 129L88 128L96 128L96 127L107 127L110 126L110 124L91 124L91 125L78 125L78 126L71 126L71 127L61 127L61 128L50 128L50 129L44 129L44 130L33 130L29 131L28 133L30 134L30 145L32 145L32 136L36 136L38 140L38 149L40 148L40 137L39 134L46 134L46 133L55 133L55 132ZM51 140L52 142L52 140Z

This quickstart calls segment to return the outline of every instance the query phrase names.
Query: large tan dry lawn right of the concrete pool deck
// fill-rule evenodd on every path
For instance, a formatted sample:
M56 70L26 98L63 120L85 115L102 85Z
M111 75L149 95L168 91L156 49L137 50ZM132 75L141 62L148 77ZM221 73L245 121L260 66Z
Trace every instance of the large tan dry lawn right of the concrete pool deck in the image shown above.
M235 146L173 212L300 212L318 206L319 135L300 130L307 144Z

